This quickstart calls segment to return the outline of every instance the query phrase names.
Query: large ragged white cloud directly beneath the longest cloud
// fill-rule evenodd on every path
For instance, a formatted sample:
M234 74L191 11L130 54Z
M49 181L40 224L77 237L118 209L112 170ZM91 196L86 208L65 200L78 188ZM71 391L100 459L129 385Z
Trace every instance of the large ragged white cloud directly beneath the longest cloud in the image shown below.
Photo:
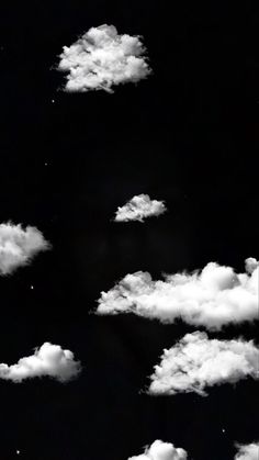
M259 348L243 339L209 339L205 333L187 334L169 350L150 377L149 394L195 392L206 395L206 386L259 379Z

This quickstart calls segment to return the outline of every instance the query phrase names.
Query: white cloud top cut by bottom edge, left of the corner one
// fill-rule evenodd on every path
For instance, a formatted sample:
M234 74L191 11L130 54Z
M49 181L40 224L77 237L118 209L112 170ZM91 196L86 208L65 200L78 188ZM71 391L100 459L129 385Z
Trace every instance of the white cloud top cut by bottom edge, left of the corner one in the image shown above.
M187 452L176 448L171 442L156 440L144 453L131 457L128 460L187 460Z

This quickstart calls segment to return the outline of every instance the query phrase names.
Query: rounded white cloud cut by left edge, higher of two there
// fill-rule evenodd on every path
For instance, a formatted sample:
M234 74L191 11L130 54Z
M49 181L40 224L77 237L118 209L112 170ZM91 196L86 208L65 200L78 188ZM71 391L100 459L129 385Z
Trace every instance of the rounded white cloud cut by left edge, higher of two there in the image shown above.
M35 227L23 229L20 224L0 224L0 274L12 273L49 247L42 232Z

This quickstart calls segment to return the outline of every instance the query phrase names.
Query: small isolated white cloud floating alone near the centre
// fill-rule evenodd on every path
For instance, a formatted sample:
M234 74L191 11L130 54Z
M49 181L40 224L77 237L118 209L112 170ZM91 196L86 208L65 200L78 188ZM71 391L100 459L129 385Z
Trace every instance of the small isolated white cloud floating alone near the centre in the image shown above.
M158 216L166 212L162 201L150 200L148 194L133 197L124 206L119 207L115 214L115 222L139 221L146 217Z

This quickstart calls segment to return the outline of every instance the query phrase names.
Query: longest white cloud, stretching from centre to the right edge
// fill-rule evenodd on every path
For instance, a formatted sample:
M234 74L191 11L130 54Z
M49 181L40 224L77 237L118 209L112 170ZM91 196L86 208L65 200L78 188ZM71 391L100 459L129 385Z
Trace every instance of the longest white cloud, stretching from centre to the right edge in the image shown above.
M173 323L221 329L229 323L259 318L258 261L246 260L246 273L211 262L191 274L165 276L154 281L148 272L126 274L114 288L102 292L97 314L135 313Z

